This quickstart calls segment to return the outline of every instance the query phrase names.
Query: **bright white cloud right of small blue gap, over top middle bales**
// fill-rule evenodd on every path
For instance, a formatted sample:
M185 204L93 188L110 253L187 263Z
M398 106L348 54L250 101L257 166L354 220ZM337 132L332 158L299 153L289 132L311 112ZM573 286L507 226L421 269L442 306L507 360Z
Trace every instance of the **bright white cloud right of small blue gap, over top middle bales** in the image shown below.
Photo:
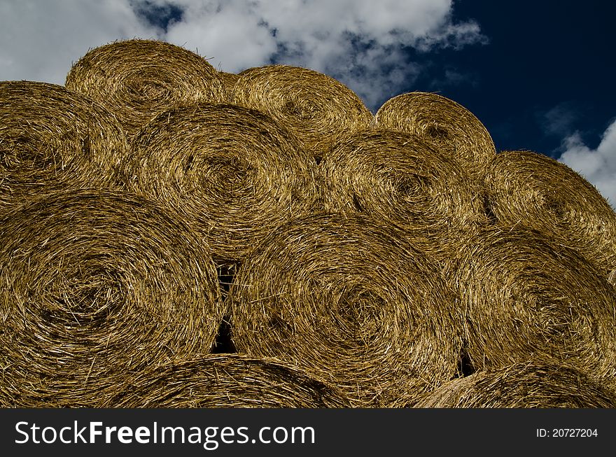
M306 66L341 80L373 111L419 76L404 47L484 41L475 22L452 22L450 0L156 2L185 11L167 39L207 50L214 66L237 72L270 59Z

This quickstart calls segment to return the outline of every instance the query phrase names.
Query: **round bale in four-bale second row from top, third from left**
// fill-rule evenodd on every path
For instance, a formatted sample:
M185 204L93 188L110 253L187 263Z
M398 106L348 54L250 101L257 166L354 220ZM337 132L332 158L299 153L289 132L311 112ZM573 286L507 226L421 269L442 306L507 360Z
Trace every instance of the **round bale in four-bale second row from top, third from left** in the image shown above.
M319 164L326 210L397 225L437 259L485 225L479 187L421 137L373 129L346 136Z

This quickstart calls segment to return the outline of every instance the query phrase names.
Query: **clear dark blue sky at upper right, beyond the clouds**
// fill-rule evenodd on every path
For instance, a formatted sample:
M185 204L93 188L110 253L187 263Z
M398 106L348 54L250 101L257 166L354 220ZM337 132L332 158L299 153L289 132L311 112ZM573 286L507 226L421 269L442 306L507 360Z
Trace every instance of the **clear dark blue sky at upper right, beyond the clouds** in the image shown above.
M558 157L561 141L575 131L596 148L616 117L615 3L456 1L454 18L476 20L488 43L409 51L431 62L409 90L438 91L463 104L497 150Z

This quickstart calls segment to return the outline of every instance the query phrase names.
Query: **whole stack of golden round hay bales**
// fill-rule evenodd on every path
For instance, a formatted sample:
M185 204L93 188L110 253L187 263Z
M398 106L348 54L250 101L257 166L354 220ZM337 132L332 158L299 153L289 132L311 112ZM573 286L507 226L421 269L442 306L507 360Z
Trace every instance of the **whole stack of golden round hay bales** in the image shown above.
M452 100L129 40L0 115L2 406L615 405L615 213Z

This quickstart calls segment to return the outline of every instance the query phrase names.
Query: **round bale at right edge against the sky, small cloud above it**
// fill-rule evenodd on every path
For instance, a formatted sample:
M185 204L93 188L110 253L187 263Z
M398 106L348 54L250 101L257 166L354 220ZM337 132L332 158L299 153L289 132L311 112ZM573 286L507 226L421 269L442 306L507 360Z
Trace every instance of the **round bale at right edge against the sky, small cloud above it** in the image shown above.
M616 213L591 183L565 164L526 150L499 153L484 178L486 211L580 251L608 277L616 268Z

